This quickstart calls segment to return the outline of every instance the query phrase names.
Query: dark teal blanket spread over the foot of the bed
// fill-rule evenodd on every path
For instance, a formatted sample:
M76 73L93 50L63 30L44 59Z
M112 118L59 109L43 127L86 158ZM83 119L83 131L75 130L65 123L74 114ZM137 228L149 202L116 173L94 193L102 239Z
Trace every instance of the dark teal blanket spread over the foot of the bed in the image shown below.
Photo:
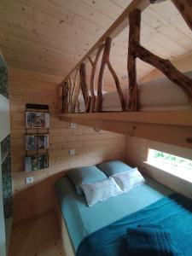
M139 224L162 226L170 232L181 255L192 255L192 201L177 194L165 197L92 233L81 242L76 255L128 256L126 230Z

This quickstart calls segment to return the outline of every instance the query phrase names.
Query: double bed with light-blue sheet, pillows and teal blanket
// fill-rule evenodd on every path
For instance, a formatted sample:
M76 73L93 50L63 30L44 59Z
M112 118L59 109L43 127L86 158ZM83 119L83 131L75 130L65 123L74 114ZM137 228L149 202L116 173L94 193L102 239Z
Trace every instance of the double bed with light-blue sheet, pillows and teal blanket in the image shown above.
M148 231L148 224L157 227L152 229L157 236L144 246L157 242L166 247L169 236L182 253L158 251L160 255L192 255L192 202L120 160L69 170L55 183L55 210L67 256L130 255L131 242L125 246L127 234L141 225ZM161 240L159 232L165 235ZM134 239L133 245L131 255L143 255L135 254Z

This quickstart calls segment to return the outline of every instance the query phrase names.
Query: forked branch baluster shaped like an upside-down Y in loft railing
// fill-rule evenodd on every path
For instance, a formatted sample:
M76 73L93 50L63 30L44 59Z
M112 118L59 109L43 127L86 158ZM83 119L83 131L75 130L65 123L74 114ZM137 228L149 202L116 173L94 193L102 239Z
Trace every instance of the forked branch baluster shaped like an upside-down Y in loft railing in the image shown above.
M98 79L98 89L97 89L97 98L96 98L96 112L101 112L102 111L102 88L103 88L103 77L104 77L104 72L105 72L105 67L106 65L108 65L108 69L111 72L115 85L116 85L116 89L118 91L119 94L119 99L121 102L121 108L122 111L125 111L125 100L124 100L124 96L123 96L123 92L120 88L120 83L119 83L119 79L117 74L115 73L115 71L113 70L113 67L109 61L109 54L110 54L110 49L111 49L111 42L112 39L111 38L107 38L105 41L105 46L104 46L104 50L103 50L103 55L102 55L102 63L101 63L101 67L100 67L100 72L99 72L99 79Z

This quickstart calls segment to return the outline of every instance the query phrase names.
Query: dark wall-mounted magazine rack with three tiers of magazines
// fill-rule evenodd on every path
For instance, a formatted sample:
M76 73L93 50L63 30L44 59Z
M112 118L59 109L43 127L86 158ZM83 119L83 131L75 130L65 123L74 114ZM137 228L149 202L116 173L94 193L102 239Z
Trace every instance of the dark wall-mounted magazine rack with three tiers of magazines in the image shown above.
M26 104L25 171L49 167L49 106Z

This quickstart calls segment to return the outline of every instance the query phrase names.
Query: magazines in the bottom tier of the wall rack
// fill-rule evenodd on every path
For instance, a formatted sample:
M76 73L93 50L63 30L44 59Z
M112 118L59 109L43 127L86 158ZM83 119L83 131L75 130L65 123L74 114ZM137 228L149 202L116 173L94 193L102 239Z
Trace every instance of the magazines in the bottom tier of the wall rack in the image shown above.
M37 171L49 167L49 157L47 154L26 156L26 172Z

